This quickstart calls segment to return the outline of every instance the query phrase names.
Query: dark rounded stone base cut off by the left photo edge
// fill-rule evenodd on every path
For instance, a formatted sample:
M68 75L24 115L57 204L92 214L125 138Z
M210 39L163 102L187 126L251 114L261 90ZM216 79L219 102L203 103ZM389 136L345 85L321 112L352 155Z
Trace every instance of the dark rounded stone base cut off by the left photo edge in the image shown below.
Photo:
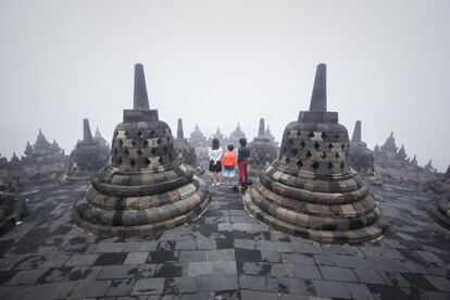
M11 195L0 195L0 236L14 227L25 215L24 201L18 201Z

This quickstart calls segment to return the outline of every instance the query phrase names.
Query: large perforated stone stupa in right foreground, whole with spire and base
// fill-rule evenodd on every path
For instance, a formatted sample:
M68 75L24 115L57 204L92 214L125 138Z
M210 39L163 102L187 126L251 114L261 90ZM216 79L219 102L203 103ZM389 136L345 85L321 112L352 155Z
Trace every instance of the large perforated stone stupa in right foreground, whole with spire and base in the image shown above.
M388 226L348 159L349 138L326 110L326 66L320 64L309 111L286 126L280 153L245 195L251 214L291 235L321 242L361 242Z

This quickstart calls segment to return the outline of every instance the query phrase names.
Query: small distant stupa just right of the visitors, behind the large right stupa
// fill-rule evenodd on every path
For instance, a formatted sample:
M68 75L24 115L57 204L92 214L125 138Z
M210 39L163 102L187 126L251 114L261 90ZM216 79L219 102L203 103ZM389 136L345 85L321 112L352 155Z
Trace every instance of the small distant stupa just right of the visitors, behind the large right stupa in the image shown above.
M257 174L267 167L277 155L277 148L264 132L264 118L260 120L258 136L250 143L250 174Z

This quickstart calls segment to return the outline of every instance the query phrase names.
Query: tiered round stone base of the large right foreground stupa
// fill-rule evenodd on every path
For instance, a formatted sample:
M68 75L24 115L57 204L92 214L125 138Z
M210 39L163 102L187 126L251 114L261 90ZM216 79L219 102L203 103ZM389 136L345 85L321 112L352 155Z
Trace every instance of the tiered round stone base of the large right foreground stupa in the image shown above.
M274 172L267 171L243 201L252 215L277 230L320 242L357 243L379 237L389 225L364 186L346 192L311 191L275 182L270 175Z

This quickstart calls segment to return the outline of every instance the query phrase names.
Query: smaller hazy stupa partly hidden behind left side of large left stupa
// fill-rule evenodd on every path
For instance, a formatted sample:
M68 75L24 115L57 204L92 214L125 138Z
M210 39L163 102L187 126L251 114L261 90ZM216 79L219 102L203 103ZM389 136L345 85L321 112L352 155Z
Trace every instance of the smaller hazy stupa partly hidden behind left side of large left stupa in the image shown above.
M85 118L83 140L78 141L72 151L67 173L62 179L64 183L89 180L92 174L107 165L108 159L104 146L92 138L89 121Z

